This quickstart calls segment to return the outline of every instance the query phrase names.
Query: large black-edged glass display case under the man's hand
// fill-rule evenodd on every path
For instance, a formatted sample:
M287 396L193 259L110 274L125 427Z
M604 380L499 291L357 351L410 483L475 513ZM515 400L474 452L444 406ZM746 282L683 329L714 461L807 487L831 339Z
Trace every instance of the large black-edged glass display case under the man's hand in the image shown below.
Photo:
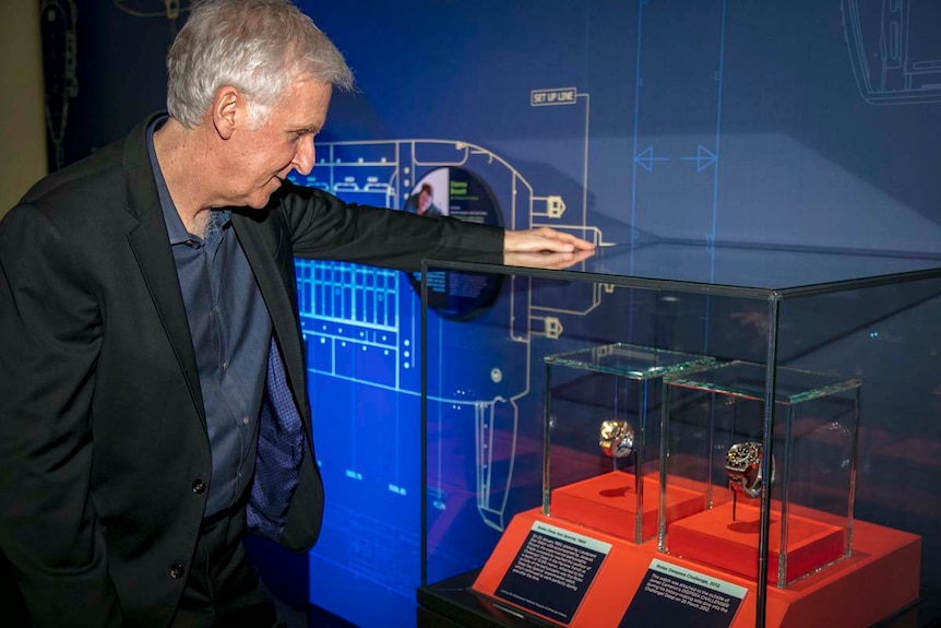
M941 257L503 262L422 271L419 625L941 618Z

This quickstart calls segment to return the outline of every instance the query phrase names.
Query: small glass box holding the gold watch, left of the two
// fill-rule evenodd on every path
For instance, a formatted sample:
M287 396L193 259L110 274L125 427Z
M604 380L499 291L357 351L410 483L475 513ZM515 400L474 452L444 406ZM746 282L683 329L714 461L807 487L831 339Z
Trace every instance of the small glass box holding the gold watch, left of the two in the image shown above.
M660 509L664 377L712 362L623 343L546 356L543 513L643 543L662 511L701 510L681 489Z

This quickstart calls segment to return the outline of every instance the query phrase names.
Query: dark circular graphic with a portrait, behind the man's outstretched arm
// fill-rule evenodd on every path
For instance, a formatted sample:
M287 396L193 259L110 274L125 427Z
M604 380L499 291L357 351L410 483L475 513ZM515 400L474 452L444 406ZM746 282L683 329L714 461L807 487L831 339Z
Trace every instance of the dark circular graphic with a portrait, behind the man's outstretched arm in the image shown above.
M465 168L444 166L426 173L412 189L405 210L429 220L503 226L503 213L487 183ZM412 287L421 294L421 273L409 273ZM500 294L503 275L430 271L428 307L450 320L468 320L489 308Z

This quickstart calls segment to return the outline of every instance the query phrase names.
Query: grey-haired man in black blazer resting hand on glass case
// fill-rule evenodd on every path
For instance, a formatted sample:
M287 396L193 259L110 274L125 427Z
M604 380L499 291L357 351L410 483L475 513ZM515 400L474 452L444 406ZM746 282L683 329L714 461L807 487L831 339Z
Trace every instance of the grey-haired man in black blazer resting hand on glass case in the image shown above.
M33 626L275 624L241 537L307 550L323 503L295 256L591 254L287 181L353 83L287 0L193 7L168 72L169 117L0 223L0 613Z

